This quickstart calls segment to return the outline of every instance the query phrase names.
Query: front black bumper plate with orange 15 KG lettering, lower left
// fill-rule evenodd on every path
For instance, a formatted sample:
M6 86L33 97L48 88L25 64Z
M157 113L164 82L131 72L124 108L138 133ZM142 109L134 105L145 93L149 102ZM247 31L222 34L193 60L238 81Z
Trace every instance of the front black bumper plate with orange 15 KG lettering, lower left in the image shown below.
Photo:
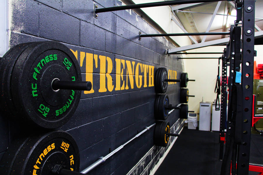
M11 175L52 175L51 169L56 164L79 171L77 144L63 131L30 137L17 154Z

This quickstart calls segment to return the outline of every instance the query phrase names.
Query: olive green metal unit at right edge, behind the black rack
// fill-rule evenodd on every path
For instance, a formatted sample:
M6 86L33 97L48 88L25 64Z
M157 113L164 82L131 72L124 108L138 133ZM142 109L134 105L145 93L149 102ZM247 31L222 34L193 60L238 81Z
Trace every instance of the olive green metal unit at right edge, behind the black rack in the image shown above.
M256 95L256 103L255 103L255 114L263 114L263 79L254 79L253 80L253 94ZM257 129L263 129L263 119L260 119L255 123ZM258 134L252 129L253 134Z

